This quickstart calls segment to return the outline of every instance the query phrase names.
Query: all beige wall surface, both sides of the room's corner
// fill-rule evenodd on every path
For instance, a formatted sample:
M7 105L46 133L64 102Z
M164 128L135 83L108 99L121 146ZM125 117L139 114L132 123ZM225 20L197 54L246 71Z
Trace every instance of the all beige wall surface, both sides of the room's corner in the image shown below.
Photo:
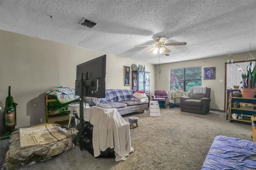
M4 108L8 86L17 106L17 128L45 122L44 92L66 86L74 88L76 65L84 63L105 53L84 49L53 41L20 35L0 30L0 107ZM151 96L156 89L169 91L169 70L190 66L216 67L215 80L203 80L202 86L212 88L211 109L224 110L224 82L226 55L205 59L160 64L149 64L116 55L107 55L106 88L131 89L124 86L124 66L142 64L151 72ZM234 54L234 61L244 61L249 53ZM256 56L256 51L252 51ZM172 56L174 57L174 56ZM131 76L130 76L131 84ZM41 120L42 119L42 120ZM42 121L42 122L41 122Z

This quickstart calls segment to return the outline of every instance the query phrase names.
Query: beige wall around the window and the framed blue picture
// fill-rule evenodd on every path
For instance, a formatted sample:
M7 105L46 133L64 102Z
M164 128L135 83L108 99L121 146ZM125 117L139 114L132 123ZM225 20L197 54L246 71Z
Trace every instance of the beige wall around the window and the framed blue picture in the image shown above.
M233 55L233 61L245 61L249 53L237 53ZM252 51L252 55L256 57L256 51ZM173 56L172 56L173 57ZM169 76L170 69L184 68L193 66L202 66L202 86L211 88L211 102L210 109L217 109L224 111L225 99L224 95L226 92L225 86L225 63L228 57L226 55L210 57L205 59L182 61L176 63L160 64L161 75L159 79L158 65L155 65L155 77L156 77L156 89L169 90ZM216 79L215 80L204 80L204 68L205 67L216 67ZM223 82L220 82L223 80Z

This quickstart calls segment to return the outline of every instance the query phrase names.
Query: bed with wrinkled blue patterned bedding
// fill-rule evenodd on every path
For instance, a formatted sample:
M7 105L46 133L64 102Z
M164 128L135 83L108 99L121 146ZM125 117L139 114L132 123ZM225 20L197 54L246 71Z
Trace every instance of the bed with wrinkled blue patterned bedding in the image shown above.
M256 170L256 143L216 136L202 170Z

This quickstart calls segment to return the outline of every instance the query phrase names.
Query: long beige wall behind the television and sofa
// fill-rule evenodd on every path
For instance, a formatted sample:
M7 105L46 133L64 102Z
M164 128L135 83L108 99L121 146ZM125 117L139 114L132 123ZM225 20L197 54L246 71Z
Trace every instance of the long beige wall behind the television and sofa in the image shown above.
M18 104L16 128L44 123L44 92L58 86L75 88L76 65L104 54L0 30L0 107L3 108L11 86L11 95ZM106 55L107 89L132 88L131 76L130 86L124 86L124 66L143 64L148 72L155 69L154 64ZM154 74L150 78L152 93Z

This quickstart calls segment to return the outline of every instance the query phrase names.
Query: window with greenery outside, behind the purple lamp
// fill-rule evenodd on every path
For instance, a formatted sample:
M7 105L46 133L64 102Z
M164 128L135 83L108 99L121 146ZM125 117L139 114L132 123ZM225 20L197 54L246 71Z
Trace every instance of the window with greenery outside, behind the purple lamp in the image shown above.
M202 86L202 67L175 68L170 70L170 80L176 76L178 82L170 83L170 91L188 92L192 86Z

